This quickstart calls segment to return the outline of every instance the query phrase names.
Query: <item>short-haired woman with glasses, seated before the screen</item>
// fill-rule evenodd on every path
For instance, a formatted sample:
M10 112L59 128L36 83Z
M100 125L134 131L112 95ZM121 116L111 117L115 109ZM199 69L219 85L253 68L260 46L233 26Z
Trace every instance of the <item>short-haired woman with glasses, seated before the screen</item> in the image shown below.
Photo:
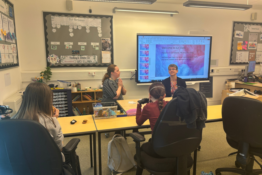
M177 90L179 86L183 86L187 88L187 84L182 78L177 77L178 68L177 65L171 64L168 66L168 73L170 77L164 79L162 84L166 89L166 97L173 97L174 92Z

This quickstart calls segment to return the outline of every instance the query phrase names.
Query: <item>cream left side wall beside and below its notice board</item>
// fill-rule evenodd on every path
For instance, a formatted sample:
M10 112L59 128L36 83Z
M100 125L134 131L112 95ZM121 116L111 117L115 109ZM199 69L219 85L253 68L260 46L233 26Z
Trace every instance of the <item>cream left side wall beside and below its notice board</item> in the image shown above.
M11 1L14 4L14 15L15 15L15 20L16 20L16 15L18 15L16 8L17 8L17 2L15 0ZM19 33L18 33L19 28L16 26L16 31L17 31L17 38L19 38ZM19 42L18 42L18 50L19 50ZM21 63L20 61L20 54L18 52L18 58L19 58L19 65ZM5 86L5 81L4 81L4 74L9 73L11 76L11 85ZM22 82L21 82L21 65L20 67L15 67L15 68L8 68L4 70L0 70L0 104L3 104L3 100L8 98L9 96L13 95L17 91L22 89Z

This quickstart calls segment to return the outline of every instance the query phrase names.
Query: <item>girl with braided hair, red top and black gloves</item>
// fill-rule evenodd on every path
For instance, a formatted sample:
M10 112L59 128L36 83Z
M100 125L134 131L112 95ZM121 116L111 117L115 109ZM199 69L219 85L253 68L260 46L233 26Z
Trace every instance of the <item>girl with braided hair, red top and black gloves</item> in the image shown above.
M168 103L163 100L166 97L165 86L162 83L154 82L149 87L149 98L143 98L137 103L136 122L138 125L149 119L150 127L153 132L156 120L158 119L162 109ZM141 112L141 105L147 103Z

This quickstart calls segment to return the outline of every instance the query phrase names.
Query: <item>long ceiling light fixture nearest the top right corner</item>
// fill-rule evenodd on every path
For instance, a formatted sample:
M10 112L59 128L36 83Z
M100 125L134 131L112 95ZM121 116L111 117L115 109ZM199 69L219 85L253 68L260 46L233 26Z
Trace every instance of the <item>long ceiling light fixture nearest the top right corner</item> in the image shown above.
M200 8L220 8L220 9L232 9L232 10L247 10L252 8L252 5L246 4L233 4L222 2L207 2L207 1L187 1L183 3L185 7L200 7Z

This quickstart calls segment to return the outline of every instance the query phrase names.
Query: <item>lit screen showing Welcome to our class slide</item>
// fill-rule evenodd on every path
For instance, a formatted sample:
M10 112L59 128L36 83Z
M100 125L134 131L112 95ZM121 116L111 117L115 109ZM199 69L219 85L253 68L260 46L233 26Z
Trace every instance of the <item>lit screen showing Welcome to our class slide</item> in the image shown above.
M168 66L178 66L177 76L187 81L208 78L210 37L138 36L138 81L169 77Z

